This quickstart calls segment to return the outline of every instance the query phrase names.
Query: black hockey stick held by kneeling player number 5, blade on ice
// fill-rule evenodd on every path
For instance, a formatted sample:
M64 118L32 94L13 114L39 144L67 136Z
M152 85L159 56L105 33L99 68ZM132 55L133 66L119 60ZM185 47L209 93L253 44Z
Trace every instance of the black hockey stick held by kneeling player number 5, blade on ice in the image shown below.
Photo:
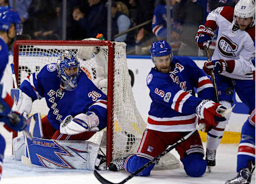
M135 175L139 174L141 171L143 171L144 169L148 168L149 165L153 164L153 163L157 163L160 158L162 156L164 156L165 154L169 153L173 148L175 148L176 146L178 146L180 143L182 143L183 141L187 140L189 137L193 136L195 133L197 132L197 130L195 129L194 131L189 132L186 136L182 137L181 139L179 139L176 143L174 143L173 145L171 145L169 148L165 149L165 151L161 154L159 154L158 156L156 156L153 160L149 161L148 163L146 163L145 165L141 166L140 169L138 169L137 171L133 172L132 174L130 174L128 177L126 177L123 181L119 182L119 183L113 183L110 182L108 180L106 180L105 178L103 178L98 171L94 170L93 174L95 175L95 177L103 184L123 184L126 181L130 180L131 178L133 178Z

